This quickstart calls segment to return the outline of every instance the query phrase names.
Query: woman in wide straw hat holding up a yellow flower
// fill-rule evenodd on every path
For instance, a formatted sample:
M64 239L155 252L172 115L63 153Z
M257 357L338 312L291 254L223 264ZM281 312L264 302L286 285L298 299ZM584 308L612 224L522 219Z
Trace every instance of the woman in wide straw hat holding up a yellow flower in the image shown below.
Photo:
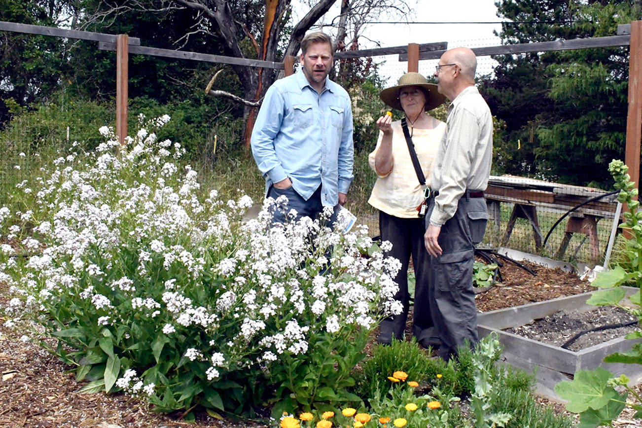
M424 347L436 347L438 339L433 332L425 285L428 252L424 247L424 213L420 207L425 201L424 189L430 185L437 148L446 132L446 123L426 112L442 104L445 97L437 92L437 85L428 83L419 73L404 74L396 86L382 90L379 97L386 105L402 110L405 117L392 121L389 112L379 117L379 140L369 157L377 181L368 203L379 210L381 240L392 243L392 250L386 255L401 262L395 282L399 285L396 299L403 304L401 314L381 321L377 341L388 344L393 338L404 339L409 307L408 264L412 255L416 278L413 334Z

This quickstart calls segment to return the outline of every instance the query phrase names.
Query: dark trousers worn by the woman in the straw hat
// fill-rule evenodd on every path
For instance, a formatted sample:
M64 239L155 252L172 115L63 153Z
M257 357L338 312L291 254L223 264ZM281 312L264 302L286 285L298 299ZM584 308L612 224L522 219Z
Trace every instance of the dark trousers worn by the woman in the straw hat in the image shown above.
M428 252L424 247L424 220L421 218L399 218L379 211L379 231L381 241L390 241L392 250L386 257L395 257L401 262L401 269L394 278L399 286L395 300L403 304L403 312L399 315L386 318L379 324L379 343L390 343L392 337L404 339L406 320L408 318L408 264L412 255L415 271L415 309L413 312L413 334L422 345L437 346L433 332L433 321L430 316L428 304L428 287L426 284L426 268Z

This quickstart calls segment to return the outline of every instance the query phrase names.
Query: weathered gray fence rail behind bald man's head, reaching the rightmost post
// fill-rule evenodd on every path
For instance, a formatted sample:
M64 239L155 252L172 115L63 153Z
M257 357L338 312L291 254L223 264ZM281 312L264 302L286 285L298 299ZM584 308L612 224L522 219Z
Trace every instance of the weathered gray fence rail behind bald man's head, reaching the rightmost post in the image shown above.
M520 43L505 46L473 47L477 56L511 55L515 53L568 51L573 49L587 49L590 47L629 46L630 36L592 37L590 39L555 40L553 42ZM420 60L436 60L441 58L445 51L419 52ZM408 53L399 55L399 61L407 61Z

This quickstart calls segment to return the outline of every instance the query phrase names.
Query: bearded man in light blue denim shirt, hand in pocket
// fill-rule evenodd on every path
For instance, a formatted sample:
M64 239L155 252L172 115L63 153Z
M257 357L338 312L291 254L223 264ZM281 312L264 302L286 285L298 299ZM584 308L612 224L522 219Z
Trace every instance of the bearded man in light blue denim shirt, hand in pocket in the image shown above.
M330 38L317 31L301 41L302 73L275 81L252 130L252 154L265 176L266 197L288 197L285 212L316 218L343 205L352 182L352 109L345 89L327 78ZM283 223L284 212L274 221Z

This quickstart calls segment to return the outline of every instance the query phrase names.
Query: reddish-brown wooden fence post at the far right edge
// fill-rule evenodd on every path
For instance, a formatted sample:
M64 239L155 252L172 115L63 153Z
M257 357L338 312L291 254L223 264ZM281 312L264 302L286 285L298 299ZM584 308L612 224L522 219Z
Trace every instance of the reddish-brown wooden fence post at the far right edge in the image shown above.
M642 139L642 21L631 22L629 51L629 114L625 164L631 181L639 188L640 144Z

